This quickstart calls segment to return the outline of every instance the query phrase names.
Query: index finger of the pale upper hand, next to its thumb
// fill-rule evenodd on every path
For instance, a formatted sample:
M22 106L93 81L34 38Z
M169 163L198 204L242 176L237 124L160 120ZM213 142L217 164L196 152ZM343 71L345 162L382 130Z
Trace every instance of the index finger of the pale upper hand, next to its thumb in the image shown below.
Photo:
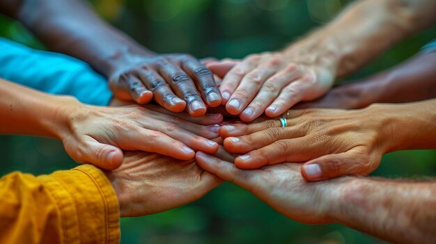
M238 65L235 65L230 71L228 71L226 76L224 76L221 86L219 86L219 90L221 91L222 95L221 104L227 104L228 99L230 99L231 95L239 86L244 76L257 66L259 59L259 55L249 56ZM234 103L237 103L237 101L235 101ZM233 105L236 106L238 104Z

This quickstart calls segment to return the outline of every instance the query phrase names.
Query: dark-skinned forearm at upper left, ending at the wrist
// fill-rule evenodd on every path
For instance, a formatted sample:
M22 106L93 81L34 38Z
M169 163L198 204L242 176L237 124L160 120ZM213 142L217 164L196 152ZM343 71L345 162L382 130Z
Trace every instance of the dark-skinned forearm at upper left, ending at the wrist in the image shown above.
M152 54L81 0L23 0L17 18L49 49L84 60L104 76L131 54Z

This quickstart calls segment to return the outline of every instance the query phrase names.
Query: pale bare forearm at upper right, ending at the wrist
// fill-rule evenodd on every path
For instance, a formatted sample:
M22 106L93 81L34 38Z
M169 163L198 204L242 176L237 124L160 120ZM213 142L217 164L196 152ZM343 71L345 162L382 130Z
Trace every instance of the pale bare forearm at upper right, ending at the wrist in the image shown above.
M435 1L358 1L333 22L286 49L311 52L316 60L334 63L336 76L345 76L380 55L407 35L436 21Z

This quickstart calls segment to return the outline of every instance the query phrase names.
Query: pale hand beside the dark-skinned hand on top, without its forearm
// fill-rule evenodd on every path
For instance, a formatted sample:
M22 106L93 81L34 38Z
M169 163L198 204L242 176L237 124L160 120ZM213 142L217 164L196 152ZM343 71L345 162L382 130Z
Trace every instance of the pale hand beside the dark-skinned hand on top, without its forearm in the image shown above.
M226 74L219 87L223 104L233 115L251 122L264 112L277 117L299 101L311 101L327 92L335 78L328 56L310 52L267 52L242 61L208 63L216 74Z

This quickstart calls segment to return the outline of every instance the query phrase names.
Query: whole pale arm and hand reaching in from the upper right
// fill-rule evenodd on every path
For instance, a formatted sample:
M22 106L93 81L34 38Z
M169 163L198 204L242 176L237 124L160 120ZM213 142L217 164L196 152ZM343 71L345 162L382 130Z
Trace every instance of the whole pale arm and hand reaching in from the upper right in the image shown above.
M336 77L355 72L399 40L436 22L435 11L436 2L428 0L357 1L283 51L209 62L207 67L224 76L219 90L229 113L244 122L263 113L277 117L299 101L321 97Z

